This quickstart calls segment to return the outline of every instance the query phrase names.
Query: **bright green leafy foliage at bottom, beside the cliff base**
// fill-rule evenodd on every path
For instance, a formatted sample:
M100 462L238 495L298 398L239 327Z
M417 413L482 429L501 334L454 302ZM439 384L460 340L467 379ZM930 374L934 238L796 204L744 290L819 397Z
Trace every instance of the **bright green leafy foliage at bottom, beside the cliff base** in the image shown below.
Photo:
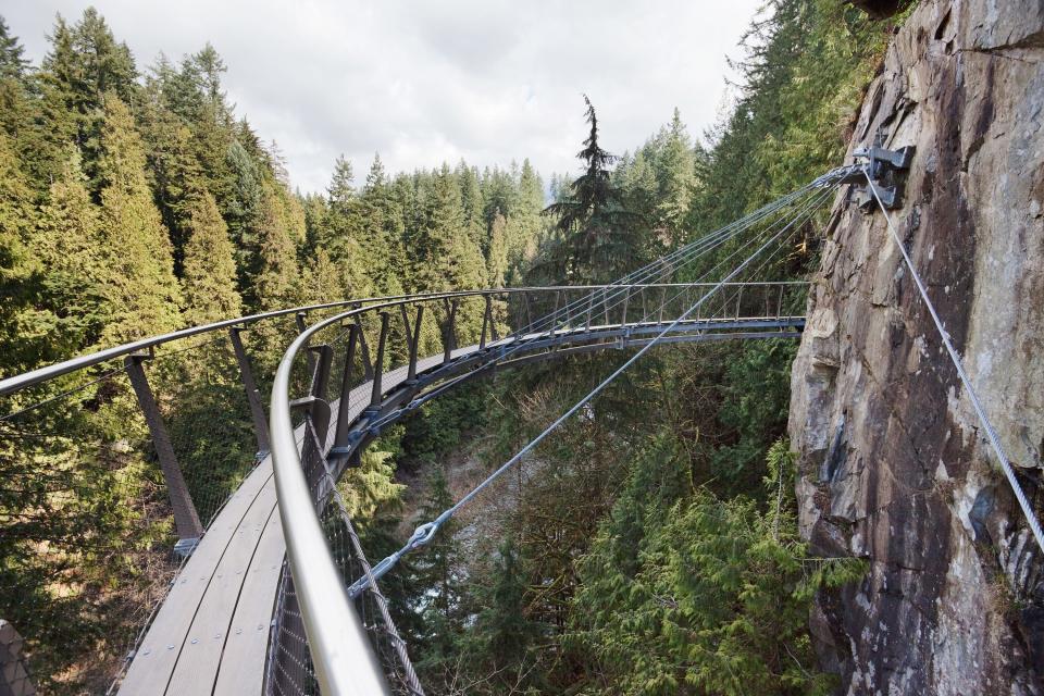
M865 568L808 557L784 443L769 463L767 487L778 497L768 512L696 488L671 508L639 505L649 514L637 522L637 548L620 548L621 515L634 515L622 508L634 494L620 498L580 563L586 582L567 642L597 660L585 693L830 693L830 679L816 673L808 604L818 588L858 580ZM627 490L645 483L632 476Z

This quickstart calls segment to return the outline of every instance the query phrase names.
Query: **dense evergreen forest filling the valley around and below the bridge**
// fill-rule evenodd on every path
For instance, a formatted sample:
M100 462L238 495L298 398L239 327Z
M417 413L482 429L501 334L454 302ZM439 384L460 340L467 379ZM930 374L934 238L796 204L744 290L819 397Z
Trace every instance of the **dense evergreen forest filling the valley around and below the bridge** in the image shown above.
M235 112L214 47L144 67L89 9L59 17L46 58L32 65L16 27L0 21L0 377L284 307L611 281L840 164L899 21L833 0L771 0L736 59L733 103L699 137L675 111L636 148L601 142L596 119L612 114L577 101L591 123L575 134L577 144L587 138L579 176L545 182L524 159L389 173L375 154L364 176L337 158L318 195L296 191L276 144ZM817 252L809 231L780 278L805 277ZM262 373L286 341L278 332L250 336ZM808 635L811 599L862 568L812 558L797 535L783 439L795 349L655 351L542 445L511 495L484 500L481 514L388 575L384 589L427 692L830 693ZM241 477L228 462L250 452L227 447L238 425L207 423L199 405L225 402L238 387L203 353L186 355L154 378L158 390L192 394L197 410L171 401L164 417L176 438L213 430L202 447L215 471L229 472L217 478L231 490ZM497 467L620 361L569 360L435 400L371 446L341 484L371 559L459 497L468 471ZM4 399L3 412L50 396ZM104 689L142 619L104 588L127 576L151 586L156 549L172 534L144 426L130 436L117 427L132 408L126 395L98 387L76 403L89 408L51 409L34 423L95 444L98 477L77 484L78 521L62 533L74 546L90 520L108 515L120 562L42 552L38 539L54 535L44 530L54 521L20 512L42 494L0 490L0 618L40 648L47 693ZM45 464L83 475L86 459L67 449L26 456L24 425L0 421L0 478L42 476ZM142 497L144 511L121 505ZM75 582L64 575L73 556ZM54 601L55 585L65 598L90 596L96 611ZM52 663L44 647L108 657Z

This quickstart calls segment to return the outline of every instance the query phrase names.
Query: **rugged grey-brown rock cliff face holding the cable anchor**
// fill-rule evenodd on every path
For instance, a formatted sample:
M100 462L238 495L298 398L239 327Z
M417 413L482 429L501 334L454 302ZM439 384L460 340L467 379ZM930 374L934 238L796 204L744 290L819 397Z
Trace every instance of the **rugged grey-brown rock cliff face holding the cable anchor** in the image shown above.
M912 145L892 213L1037 504L1044 453L1044 2L924 0L853 145ZM840 197L794 364L803 535L869 561L819 598L848 694L1044 694L1044 559L880 211Z

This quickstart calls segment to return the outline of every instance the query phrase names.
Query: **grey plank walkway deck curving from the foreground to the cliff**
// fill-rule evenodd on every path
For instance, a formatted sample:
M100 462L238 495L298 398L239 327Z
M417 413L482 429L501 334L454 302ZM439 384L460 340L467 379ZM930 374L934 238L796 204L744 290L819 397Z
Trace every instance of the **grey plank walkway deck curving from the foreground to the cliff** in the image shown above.
M699 339L710 328L756 330L745 334L721 334L717 338L768 338L774 331L800 330L803 318L703 320L686 322L681 328ZM609 339L611 343L579 345L570 350L639 346L641 337L658 323L591 326L555 340L533 341L534 348L554 343ZM626 338L631 332L636 337ZM790 337L794 334L778 334ZM712 337L712 338L714 338ZM679 336L685 339L685 336ZM626 343L625 343L626 341ZM495 347L500 341L493 341ZM478 350L477 345L452 351L455 360ZM539 356L529 355L521 361ZM422 375L440 366L443 355L418 361ZM389 370L383 376L383 391L401 386L407 365ZM349 396L350 418L361 415L370 402L372 382L355 387ZM343 400L331 403L331 431L336 427ZM298 428L298 447L303 431ZM151 625L132 657L119 694L121 696L195 696L203 694L261 694L265 676L266 652L281 569L286 554L283 527L276 504L272 459L265 457L244 480L208 529L191 557L175 577Z

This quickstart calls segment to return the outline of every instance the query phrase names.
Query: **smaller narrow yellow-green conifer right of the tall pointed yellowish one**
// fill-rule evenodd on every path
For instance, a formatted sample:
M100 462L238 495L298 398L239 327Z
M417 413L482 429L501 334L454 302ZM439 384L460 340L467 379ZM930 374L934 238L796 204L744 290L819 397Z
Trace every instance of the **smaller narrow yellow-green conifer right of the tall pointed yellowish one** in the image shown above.
M189 202L187 229L182 277L186 322L198 325L238 316L243 301L236 291L234 249L228 227L209 192Z

